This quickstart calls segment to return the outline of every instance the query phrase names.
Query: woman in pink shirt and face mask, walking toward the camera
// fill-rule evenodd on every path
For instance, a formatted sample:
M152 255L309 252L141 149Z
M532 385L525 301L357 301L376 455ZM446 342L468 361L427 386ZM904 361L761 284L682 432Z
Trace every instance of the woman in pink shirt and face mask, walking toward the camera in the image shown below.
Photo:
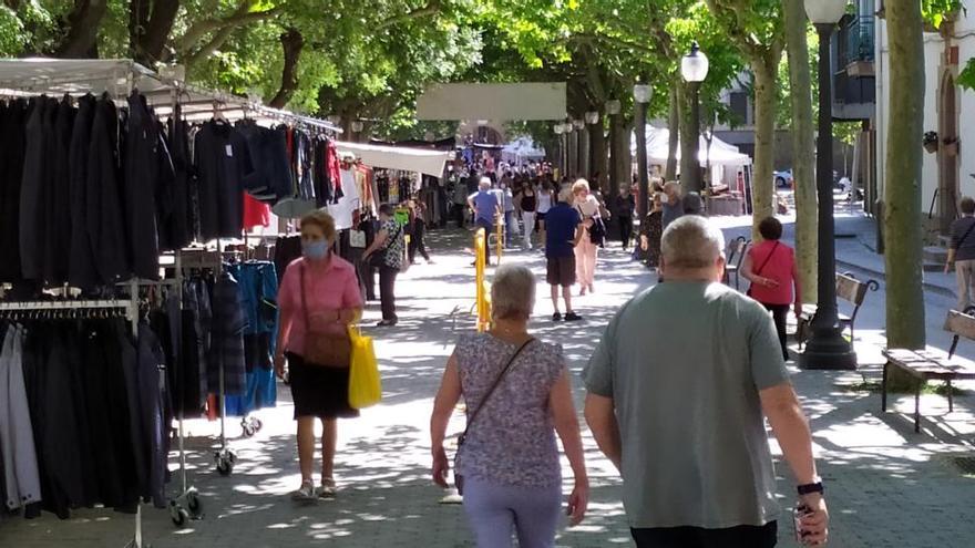
M315 210L301 218L301 255L285 270L278 291L278 322L275 371L285 374L285 358L298 421L298 462L301 487L291 494L298 502L333 497L336 420L355 417L349 405L349 368L307 363L301 356L308 323L316 333L348 337L348 327L362 312L362 296L356 268L331 252L336 241L335 220ZM307 318L306 322L306 309ZM315 418L324 426L321 440L321 485L315 487Z

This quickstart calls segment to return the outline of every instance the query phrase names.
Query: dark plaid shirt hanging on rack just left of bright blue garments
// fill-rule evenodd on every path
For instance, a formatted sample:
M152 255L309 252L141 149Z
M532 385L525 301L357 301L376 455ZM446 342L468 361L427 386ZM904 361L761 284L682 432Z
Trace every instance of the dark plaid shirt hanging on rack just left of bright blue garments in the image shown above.
M237 289L237 280L224 273L213 290L213 339L207 360L207 384L212 393L219 392L220 364L224 368L224 393L240 395L247 390L247 370L244 354L244 329L247 318Z

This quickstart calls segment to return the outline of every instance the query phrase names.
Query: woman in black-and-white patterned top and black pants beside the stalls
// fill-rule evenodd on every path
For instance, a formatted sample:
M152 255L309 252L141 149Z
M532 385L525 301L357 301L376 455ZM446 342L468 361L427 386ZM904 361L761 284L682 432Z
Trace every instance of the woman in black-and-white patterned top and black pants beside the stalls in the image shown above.
M396 279L407 260L404 247L403 227L393 219L392 206L379 206L379 232L362 254L362 260L379 270L379 301L382 309L379 327L392 327L399 321L396 313Z

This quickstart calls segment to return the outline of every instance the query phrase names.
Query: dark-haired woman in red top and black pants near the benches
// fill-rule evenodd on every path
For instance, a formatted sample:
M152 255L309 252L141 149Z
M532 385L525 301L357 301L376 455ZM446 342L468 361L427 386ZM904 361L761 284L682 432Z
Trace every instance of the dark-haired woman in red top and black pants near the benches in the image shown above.
M751 281L750 297L772 312L776 329L779 331L779 342L782 344L782 355L789 361L786 347L789 306L794 303L797 317L802 312L796 252L779 241L782 238L782 224L774 217L762 220L758 231L763 241L748 250L741 265L741 276Z

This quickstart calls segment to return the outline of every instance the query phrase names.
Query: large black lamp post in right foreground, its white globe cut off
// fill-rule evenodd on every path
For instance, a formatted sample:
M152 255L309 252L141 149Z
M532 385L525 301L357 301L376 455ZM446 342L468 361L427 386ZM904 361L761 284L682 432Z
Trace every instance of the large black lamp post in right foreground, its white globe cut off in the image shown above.
M837 257L833 219L833 97L830 40L846 11L846 0L805 0L805 13L819 32L819 136L815 184L819 194L819 302L810 324L802 369L854 370L856 353L843 338L837 312Z

